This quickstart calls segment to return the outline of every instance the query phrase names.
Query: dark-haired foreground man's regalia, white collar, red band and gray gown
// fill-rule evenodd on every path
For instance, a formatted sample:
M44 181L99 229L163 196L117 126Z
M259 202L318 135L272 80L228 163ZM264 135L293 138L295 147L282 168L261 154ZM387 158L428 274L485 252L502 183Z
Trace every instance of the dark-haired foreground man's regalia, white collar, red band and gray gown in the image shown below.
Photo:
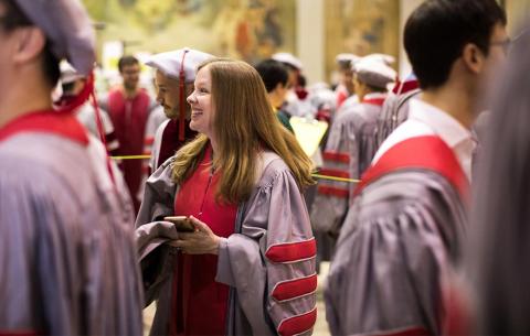
M463 248L471 152L458 121L411 101L340 232L326 290L333 335L442 333L442 286Z

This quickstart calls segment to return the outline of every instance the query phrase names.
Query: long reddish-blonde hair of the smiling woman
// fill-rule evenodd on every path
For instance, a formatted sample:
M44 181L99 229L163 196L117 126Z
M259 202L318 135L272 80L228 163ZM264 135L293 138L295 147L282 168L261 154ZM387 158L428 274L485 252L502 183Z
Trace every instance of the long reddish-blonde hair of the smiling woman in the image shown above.
M298 186L314 183L311 161L295 137L277 120L258 73L248 64L232 59L210 59L198 71L212 78L213 132L218 151L213 165L221 172L218 196L229 203L248 199L256 184L257 155L262 149L278 154ZM208 138L203 134L183 147L174 162L173 178L186 181L203 158Z

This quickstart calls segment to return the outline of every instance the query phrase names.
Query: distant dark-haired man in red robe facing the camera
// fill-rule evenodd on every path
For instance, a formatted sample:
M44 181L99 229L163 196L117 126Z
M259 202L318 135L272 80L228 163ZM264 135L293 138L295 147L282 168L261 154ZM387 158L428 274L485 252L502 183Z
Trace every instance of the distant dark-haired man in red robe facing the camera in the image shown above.
M134 56L123 56L118 62L123 84L108 93L104 102L119 141L119 155L144 154L144 136L147 118L155 101L147 90L139 87L140 64ZM124 160L121 163L125 182L138 213L140 199L138 191L142 176L141 160Z

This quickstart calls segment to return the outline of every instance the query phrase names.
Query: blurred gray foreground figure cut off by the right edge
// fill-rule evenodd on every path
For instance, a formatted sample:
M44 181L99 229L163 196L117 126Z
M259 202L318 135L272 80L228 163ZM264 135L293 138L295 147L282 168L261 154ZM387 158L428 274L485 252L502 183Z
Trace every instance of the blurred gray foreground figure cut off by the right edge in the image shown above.
M530 36L518 41L480 158L465 270L479 335L530 334Z

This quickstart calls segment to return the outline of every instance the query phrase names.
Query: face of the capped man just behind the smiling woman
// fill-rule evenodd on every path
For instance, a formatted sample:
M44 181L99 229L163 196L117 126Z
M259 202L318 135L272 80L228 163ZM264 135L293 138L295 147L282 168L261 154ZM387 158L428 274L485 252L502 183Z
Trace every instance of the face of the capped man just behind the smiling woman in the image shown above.
M160 71L157 71L155 76L155 84L157 86L157 102L163 107L163 112L169 119L176 119L180 113L180 91L179 80L163 75ZM192 84L184 86L184 99L193 90ZM183 102L187 110L187 118L189 119L190 107Z

